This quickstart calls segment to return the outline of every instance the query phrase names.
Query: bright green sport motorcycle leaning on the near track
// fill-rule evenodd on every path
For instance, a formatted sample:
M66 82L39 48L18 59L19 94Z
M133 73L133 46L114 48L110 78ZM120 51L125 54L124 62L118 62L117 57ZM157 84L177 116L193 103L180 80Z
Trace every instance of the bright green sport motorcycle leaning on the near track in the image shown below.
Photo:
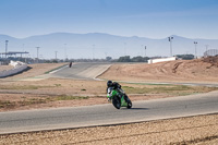
M108 88L107 98L112 101L112 105L117 109L120 109L121 107L126 107L128 109L132 108L132 101L121 88Z

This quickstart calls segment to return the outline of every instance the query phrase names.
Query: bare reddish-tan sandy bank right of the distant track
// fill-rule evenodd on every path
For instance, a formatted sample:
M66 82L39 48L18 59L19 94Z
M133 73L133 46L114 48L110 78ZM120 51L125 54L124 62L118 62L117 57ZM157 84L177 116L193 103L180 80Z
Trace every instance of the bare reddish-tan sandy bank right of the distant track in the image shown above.
M100 78L137 82L218 82L218 57L154 64L114 64Z

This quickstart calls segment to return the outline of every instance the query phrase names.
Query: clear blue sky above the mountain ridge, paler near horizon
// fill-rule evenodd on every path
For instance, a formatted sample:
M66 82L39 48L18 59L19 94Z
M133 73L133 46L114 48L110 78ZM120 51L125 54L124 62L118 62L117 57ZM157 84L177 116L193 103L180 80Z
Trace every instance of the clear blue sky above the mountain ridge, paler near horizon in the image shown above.
M218 39L218 0L0 0L0 34Z

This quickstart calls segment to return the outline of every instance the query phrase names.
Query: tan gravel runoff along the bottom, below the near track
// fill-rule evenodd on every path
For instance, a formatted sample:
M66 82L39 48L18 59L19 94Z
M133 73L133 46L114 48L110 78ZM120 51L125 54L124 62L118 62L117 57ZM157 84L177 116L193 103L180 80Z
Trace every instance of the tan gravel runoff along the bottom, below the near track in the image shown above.
M218 113L140 123L0 135L0 144L218 144Z

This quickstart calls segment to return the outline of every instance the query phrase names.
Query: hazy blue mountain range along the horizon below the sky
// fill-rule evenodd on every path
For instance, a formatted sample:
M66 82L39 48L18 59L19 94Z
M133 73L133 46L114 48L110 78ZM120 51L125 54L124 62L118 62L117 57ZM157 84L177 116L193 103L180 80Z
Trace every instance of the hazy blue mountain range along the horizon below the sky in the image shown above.
M171 39L171 47L168 37ZM124 37L104 33L73 34L52 33L36 35L26 38L15 38L0 35L0 52L27 51L26 57L36 58L37 48L41 59L105 59L106 57L119 58L121 56L142 57L169 57L171 55L196 55L203 56L206 49L218 49L218 39L193 39L177 35L162 39L145 37ZM206 47L207 46L207 47ZM146 48L146 49L145 49Z

